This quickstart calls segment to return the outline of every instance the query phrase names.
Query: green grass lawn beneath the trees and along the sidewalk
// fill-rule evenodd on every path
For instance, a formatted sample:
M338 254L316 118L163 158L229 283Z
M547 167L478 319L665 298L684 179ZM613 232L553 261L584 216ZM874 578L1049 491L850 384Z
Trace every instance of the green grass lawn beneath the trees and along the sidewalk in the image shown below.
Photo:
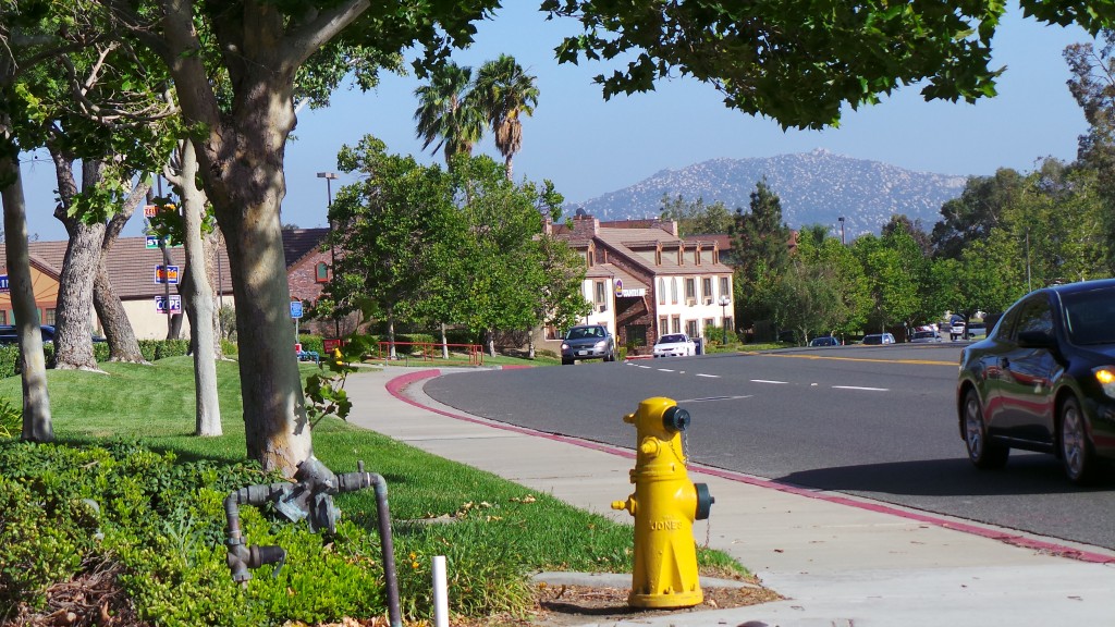
M523 361L526 360L514 363ZM87 446L119 441L138 442L159 453L173 453L180 462L204 460L223 465L244 461L244 427L235 363L217 365L224 435L206 438L192 435L194 386L188 357L167 358L148 366L104 364L101 367L104 374L48 373L58 444ZM303 378L317 369L313 365L303 365L302 368ZM18 377L0 380L0 397L8 398L16 407L20 405L20 394ZM9 426L14 426L14 434L19 433L18 425ZM3 442L0 438L0 446L4 446ZM501 611L521 614L527 609L530 595L524 590L525 573L530 571L630 572L630 527L336 418L326 418L318 424L313 443L318 457L337 473L355 471L357 461L361 460L368 471L386 478L396 536L395 552L405 597L404 611L409 618L429 618L428 569L429 559L435 554L448 557L454 611L474 617ZM3 474L4 469L0 467L0 475ZM341 494L337 504L342 511L342 520L362 530L359 533L374 533L376 510L370 490ZM215 512L210 511L212 509L206 510L212 520L191 518L190 523L207 529L201 534L203 537L219 536L216 544L212 546L211 540L207 544L195 546L185 562L194 570L213 570L207 579L200 578L212 581L198 589L223 590L232 586L223 565L223 547L220 546L224 520L220 508ZM253 508L245 505L244 509ZM425 522L429 520L452 522ZM264 528L268 528L266 524L272 531L278 529L275 525L289 527L289 523L271 522ZM304 523L294 527L306 529ZM299 533L309 536L308 531ZM249 537L248 540L250 543L264 543L260 538ZM318 537L299 541L309 542L321 551L333 547L332 542L321 544L322 540ZM326 572L314 576L304 561L295 563L298 554L297 551L291 553L278 582L256 577L251 581L252 586L259 586L260 590L294 590L300 585L309 586L304 578L330 577ZM700 549L698 559L705 573L746 575L740 565L718 551ZM250 588L243 594L254 592ZM269 615L278 623L292 618L289 614L292 610L282 608L293 601L283 599L283 602L285 605L280 609L269 610L288 612L284 616ZM274 602L260 604L279 607ZM172 610L164 608L162 611ZM200 616L196 612L201 610L193 608L191 611L195 614L188 616L196 620ZM190 619L184 620L188 623ZM164 620L174 623L165 617Z

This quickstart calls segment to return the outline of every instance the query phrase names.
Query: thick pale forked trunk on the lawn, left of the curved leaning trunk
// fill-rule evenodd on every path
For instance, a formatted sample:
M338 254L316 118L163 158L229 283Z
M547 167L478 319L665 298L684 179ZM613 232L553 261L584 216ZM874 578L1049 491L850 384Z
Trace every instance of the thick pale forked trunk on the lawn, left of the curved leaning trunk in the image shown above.
M68 209L77 194L74 180L74 160L55 147L50 148L58 179L61 203L55 208L55 218L66 225L69 242L62 259L62 271L58 279L58 306L55 331L55 367L58 369L97 369L93 356L93 282L100 260L100 249L105 240L105 224L83 222L77 215L69 215ZM85 161L81 186L91 191L100 182L104 164Z

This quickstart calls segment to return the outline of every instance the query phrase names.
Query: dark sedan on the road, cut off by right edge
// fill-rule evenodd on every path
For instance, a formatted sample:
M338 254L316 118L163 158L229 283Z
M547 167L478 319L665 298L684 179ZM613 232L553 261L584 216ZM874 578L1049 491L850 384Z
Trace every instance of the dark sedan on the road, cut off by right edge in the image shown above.
M960 354L960 436L981 469L1053 453L1075 483L1115 457L1115 279L1034 291Z

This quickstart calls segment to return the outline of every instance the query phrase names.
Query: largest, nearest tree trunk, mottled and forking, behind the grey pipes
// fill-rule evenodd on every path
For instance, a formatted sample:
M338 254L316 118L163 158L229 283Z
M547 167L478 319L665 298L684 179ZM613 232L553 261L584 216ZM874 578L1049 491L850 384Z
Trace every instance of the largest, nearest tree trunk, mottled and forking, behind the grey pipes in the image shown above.
M174 77L185 124L205 129L193 141L205 192L227 243L248 454L264 470L291 476L313 454L292 350L294 325L279 215L287 193L284 151L294 128L294 74L368 3L338 2L312 25L290 33L273 3L237 4L236 17L219 20L214 29L222 50L234 50L225 58L233 98L224 110L203 56L196 54L202 49L194 25L197 7L169 0L158 4L165 13L154 47Z

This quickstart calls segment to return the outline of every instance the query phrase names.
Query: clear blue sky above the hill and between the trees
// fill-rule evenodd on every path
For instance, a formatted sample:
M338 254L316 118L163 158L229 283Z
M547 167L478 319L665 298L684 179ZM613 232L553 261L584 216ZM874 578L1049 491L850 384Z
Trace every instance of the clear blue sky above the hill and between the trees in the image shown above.
M925 103L917 86L898 90L882 104L847 112L840 128L787 131L773 120L729 110L712 88L690 79L659 84L656 91L604 102L592 84L612 66L558 65L553 48L578 31L570 20L545 21L537 2L514 1L479 25L476 44L455 55L478 66L500 54L514 56L537 77L541 96L534 116L523 122L523 147L515 177L552 180L570 202L585 201L634 184L661 170L710 158L766 157L826 148L856 158L941 174L991 174L999 167L1030 171L1045 156L1073 160L1084 116L1068 94L1061 57L1065 46L1088 39L1078 28L1024 20L1017 8L993 41L992 67L1007 66L999 95L976 105ZM287 147L283 222L326 225L326 182L316 173L337 170L337 152L366 134L392 153L440 161L421 153L414 135L417 100L413 76L387 75L371 93L345 89L330 107L299 113L295 138ZM500 157L491 137L475 151ZM29 231L41 239L65 238L51 216L52 166L25 164ZM332 185L353 179L341 174ZM706 199L709 200L709 199ZM143 231L133 218L126 235Z

